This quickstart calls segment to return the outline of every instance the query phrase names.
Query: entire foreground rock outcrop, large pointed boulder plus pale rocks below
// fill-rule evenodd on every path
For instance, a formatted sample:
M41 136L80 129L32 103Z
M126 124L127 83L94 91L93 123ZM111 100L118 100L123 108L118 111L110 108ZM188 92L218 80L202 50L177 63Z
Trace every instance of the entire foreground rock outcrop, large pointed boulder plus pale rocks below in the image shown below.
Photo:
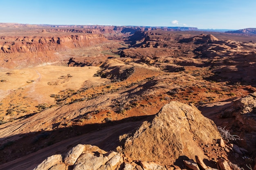
M182 166L213 169L202 160L211 160L220 170L231 170L234 168L227 152L248 152L235 145L227 146L213 121L192 104L180 102L166 104L151 121L144 121L119 140L120 146L109 152L78 144L65 155L48 157L34 170L180 170ZM205 147L218 150L219 155L211 155Z

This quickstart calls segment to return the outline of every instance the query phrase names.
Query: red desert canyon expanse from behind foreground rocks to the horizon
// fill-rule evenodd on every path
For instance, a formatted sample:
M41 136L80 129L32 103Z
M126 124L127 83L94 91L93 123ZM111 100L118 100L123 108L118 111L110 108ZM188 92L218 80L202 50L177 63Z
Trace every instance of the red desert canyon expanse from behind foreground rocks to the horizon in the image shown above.
M256 91L256 36L133 31L0 27L0 169L33 169L76 144L114 150L171 101L243 139L232 142L245 155L204 147L211 166L254 165L254 111L223 113Z

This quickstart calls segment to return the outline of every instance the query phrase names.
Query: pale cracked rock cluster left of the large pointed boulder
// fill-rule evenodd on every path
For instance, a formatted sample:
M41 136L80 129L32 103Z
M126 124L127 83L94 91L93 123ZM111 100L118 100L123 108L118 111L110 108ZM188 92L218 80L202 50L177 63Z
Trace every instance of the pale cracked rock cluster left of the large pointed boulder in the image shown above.
M106 152L97 146L78 144L66 155L48 157L34 170L115 170L122 163L123 158L118 152Z

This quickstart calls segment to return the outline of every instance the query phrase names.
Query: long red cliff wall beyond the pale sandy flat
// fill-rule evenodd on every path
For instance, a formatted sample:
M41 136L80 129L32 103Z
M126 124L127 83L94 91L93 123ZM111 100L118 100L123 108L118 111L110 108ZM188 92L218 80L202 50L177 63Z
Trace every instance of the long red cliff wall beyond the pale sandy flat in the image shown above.
M0 37L1 39L4 37ZM101 34L70 35L63 37L8 37L9 41L0 44L0 53L36 53L61 51L66 48L90 46L93 43L106 42Z

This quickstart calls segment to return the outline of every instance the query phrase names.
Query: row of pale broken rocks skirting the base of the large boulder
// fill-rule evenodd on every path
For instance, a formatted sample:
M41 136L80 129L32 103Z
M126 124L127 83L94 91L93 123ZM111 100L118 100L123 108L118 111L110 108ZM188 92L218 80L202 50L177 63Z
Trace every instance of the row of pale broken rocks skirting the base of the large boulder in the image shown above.
M195 156L184 161L184 165L193 170L216 170L206 166L202 159ZM228 160L220 158L218 169L231 170ZM200 167L200 168L199 168ZM179 166L167 166L157 161L132 161L125 157L121 147L106 152L97 146L78 144L66 155L52 155L40 163L34 170L181 170Z

